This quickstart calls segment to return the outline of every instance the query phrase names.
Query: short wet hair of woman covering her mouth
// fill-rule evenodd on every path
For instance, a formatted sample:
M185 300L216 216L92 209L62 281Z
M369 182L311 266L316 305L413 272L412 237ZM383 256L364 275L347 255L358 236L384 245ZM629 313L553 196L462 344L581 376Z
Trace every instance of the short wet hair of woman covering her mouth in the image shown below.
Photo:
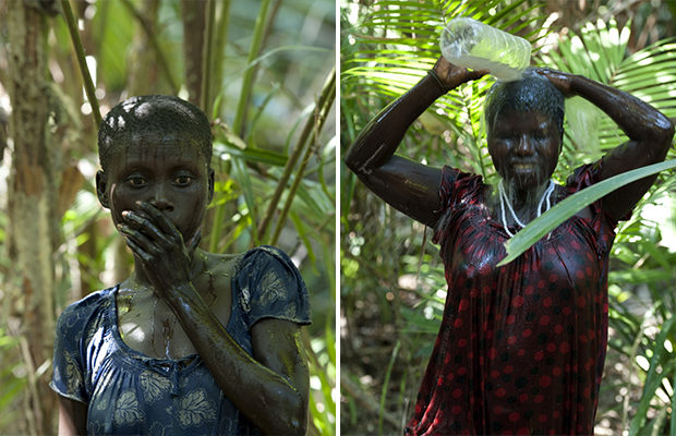
M212 128L204 112L179 97L147 95L122 101L101 121L98 130L101 168L106 171L111 156L134 138L144 136L156 143L167 135L185 138L200 147L210 166Z

